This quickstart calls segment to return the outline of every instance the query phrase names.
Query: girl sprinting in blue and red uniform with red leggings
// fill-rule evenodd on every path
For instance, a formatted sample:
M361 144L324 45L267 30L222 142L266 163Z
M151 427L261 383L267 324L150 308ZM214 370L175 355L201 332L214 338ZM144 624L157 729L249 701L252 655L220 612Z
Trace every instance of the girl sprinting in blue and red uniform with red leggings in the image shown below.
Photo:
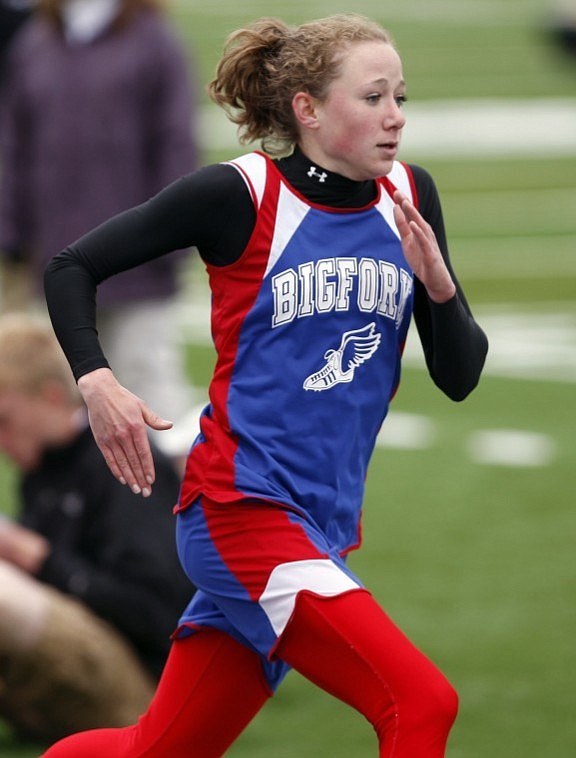
M440 758L456 693L346 563L412 314L430 375L453 400L474 389L487 350L434 183L397 160L400 57L362 16L265 18L231 36L210 93L264 150L172 184L46 271L95 437L133 492L154 491L146 430L170 421L112 373L95 329L98 283L195 245L216 365L176 509L198 591L151 706L132 727L73 735L45 756L216 758L293 667L368 719L382 758Z

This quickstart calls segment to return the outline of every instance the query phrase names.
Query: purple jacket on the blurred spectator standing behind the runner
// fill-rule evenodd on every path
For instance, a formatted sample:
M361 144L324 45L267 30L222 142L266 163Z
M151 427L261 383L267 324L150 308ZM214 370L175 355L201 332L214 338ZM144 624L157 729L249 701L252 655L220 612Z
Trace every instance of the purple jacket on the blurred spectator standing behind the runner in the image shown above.
M71 45L40 15L13 39L0 102L0 250L47 261L197 164L190 62L163 19ZM165 297L178 256L122 274L100 301Z

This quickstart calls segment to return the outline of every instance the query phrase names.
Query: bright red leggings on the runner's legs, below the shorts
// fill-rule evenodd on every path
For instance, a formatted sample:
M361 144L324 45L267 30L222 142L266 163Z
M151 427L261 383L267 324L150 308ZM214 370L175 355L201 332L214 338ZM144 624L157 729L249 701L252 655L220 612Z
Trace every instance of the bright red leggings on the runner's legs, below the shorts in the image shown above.
M380 758L444 756L456 693L368 592L303 593L276 653L364 714ZM222 632L198 632L174 642L136 725L72 735L44 758L218 758L270 695L256 653Z

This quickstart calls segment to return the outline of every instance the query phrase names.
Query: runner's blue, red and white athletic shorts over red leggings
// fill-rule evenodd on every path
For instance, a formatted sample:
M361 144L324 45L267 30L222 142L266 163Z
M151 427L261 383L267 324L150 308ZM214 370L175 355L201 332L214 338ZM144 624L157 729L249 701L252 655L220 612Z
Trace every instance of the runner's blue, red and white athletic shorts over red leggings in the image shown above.
M175 636L205 627L230 634L262 656L272 689L289 668L274 650L298 593L329 597L362 587L313 523L274 503L201 497L178 513L176 536L197 591Z

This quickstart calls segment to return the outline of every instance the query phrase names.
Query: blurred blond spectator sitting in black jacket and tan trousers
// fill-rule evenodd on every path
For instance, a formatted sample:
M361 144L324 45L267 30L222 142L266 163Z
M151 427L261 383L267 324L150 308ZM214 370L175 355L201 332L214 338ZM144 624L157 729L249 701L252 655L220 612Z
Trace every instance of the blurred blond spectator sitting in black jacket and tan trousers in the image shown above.
M172 462L155 452L145 502L114 479L52 329L27 314L0 317L0 452L21 475L18 521L0 518L0 718L39 740L132 723L190 595Z

